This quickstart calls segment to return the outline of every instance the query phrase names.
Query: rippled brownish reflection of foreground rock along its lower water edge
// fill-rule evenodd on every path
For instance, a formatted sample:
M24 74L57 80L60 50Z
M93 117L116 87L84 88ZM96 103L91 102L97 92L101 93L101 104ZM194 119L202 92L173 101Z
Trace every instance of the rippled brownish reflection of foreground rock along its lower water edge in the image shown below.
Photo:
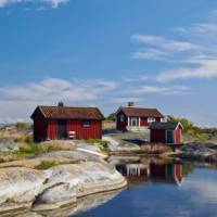
M106 203L107 201L116 196L118 193L119 191L111 191L106 193L104 192L104 193L88 195L88 196L78 199L75 204L64 206L55 210L39 212L38 214L41 214L42 216L46 216L46 217L74 216L74 215L87 212L89 209L95 208L97 206L100 206Z

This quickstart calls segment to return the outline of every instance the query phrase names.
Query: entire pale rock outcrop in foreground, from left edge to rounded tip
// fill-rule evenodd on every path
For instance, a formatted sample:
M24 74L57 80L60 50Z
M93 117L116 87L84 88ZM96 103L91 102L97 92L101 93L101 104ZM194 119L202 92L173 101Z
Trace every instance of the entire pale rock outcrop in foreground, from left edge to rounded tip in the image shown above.
M126 186L125 178L106 163L61 165L44 171L29 168L0 169L0 216L21 208L60 208L78 197ZM18 215L16 215L18 216Z

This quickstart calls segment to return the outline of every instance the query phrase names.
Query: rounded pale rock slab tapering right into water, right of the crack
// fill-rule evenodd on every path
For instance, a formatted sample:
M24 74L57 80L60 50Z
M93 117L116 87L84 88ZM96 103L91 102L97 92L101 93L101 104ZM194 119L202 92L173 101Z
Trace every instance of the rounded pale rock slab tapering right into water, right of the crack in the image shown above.
M63 203L75 202L77 197L126 186L126 180L115 169L102 163L62 165L47 173L47 189L38 196L35 209L47 209L51 205L58 208Z

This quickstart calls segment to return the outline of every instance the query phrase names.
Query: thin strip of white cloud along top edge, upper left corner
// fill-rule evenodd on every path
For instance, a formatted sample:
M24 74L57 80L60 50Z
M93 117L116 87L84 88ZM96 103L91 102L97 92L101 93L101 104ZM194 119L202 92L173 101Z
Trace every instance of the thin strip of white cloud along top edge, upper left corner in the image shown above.
M0 8L14 3L46 3L56 9L63 3L67 3L69 0L0 0Z

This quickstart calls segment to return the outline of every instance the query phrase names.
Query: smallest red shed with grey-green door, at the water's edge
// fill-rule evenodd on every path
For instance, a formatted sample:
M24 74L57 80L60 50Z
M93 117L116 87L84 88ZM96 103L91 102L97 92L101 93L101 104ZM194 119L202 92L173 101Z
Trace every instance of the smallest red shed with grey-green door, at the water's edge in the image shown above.
M152 123L150 125L151 142L179 144L182 142L181 123Z

